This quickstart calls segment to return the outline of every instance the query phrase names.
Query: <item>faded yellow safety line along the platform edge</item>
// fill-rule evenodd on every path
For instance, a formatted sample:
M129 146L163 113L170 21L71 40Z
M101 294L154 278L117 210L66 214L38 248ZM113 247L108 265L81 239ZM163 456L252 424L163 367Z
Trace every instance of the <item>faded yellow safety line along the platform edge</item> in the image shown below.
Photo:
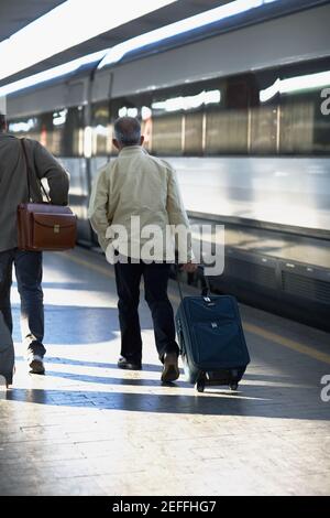
M84 267L98 271L99 273L102 273L103 276L114 279L114 272L111 271L111 269L101 267L99 265L95 265L94 262L86 261L85 259L80 259L79 257L76 257L74 255L65 253L65 255L62 255L62 257L63 256L69 259L70 261L77 262L78 265L81 265ZM177 304L180 302L180 299L177 295L170 294L169 299ZM243 327L249 333L253 333L257 336L261 336L262 338L274 342L275 344L279 344L283 347L287 347L292 350L309 356L310 358L317 359L318 361L322 361L323 364L330 365L330 355L327 353L321 353L320 350L316 350L309 347L308 345L304 345L294 339L280 336L277 333L265 331L263 327L260 327L258 325L255 325L255 324L249 324L248 322L244 322Z

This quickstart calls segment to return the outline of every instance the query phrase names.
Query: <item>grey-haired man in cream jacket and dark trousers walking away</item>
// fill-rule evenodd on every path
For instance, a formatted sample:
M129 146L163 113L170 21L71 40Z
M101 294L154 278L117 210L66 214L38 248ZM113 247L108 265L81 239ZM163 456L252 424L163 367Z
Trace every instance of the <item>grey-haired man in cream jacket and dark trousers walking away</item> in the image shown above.
M189 223L175 171L167 162L151 157L142 148L144 138L141 137L139 121L131 117L118 119L114 136L113 144L119 155L98 174L92 188L89 218L108 260L114 262L121 328L118 366L134 370L142 368L138 307L143 277L156 347L164 365L162 381L174 381L179 377L179 349L175 341L173 309L167 296L169 262L174 259L168 229L170 226L187 229L184 269L194 271L196 265L191 262ZM134 225L134 222L139 225ZM153 233L157 234L158 239L151 255L147 253L147 236Z

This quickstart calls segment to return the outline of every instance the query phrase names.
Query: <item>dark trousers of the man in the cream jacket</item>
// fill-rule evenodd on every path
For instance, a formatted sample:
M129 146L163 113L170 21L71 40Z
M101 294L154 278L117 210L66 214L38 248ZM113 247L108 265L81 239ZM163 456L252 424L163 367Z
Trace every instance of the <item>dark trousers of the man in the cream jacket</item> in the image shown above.
M165 353L176 353L173 307L167 296L169 265L122 263L114 265L119 296L121 355L132 363L142 359L142 338L139 320L140 282L143 277L145 300L152 313L154 334L161 360Z

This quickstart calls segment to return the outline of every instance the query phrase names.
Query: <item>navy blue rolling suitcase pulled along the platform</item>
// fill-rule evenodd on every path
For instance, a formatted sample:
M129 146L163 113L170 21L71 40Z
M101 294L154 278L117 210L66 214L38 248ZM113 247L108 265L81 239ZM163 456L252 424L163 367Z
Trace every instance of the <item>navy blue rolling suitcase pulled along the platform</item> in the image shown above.
M237 300L206 291L183 298L180 285L179 292L176 330L187 381L199 392L207 385L237 390L250 363Z

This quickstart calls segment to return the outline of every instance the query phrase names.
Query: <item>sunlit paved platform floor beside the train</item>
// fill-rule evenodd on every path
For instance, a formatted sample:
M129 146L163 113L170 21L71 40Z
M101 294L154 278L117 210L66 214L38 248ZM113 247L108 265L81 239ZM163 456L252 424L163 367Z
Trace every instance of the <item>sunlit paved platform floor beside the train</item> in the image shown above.
M242 306L252 363L240 391L164 387L143 293L144 370L117 369L113 287L97 253L45 255L46 376L28 374L13 290L0 495L330 494L329 334Z

